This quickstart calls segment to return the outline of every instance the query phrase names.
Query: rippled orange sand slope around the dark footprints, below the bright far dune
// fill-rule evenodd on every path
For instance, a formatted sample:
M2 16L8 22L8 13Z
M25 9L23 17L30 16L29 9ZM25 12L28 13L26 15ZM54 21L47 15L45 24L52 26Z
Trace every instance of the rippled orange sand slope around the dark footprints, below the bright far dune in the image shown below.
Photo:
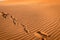
M60 40L59 4L0 5L0 11L9 14L0 15L0 40L35 40L38 31L49 36L46 40Z

